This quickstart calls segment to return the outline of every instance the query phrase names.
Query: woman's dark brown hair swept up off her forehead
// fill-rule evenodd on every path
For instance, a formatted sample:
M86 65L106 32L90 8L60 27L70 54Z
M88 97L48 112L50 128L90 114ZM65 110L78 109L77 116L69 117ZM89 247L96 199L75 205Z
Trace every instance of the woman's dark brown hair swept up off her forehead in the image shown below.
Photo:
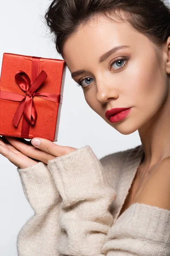
M163 0L53 0L45 20L54 33L59 55L63 57L65 41L78 26L87 24L96 15L127 21L160 48L170 36L170 7Z

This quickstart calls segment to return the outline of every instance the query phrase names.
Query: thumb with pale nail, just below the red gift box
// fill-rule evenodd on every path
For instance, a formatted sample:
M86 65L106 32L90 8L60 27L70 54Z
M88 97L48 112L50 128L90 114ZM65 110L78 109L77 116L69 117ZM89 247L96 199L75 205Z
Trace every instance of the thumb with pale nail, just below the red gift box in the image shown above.
M40 148L42 151L45 151L48 154L54 155L55 157L60 157L64 154L68 154L71 151L75 150L74 148L71 148L71 147L57 145L54 142L43 139L43 138L34 138L31 140L31 143L36 148Z

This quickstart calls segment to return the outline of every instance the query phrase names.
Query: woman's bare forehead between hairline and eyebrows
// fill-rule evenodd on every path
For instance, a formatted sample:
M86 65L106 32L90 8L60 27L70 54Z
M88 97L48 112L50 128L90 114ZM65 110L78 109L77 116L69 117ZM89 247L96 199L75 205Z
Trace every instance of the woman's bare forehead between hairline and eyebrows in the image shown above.
M68 67L83 58L98 61L99 55L119 45L140 47L148 41L146 36L133 29L127 21L110 20L99 16L86 25L80 25L63 47L63 58ZM76 64L77 65L77 64Z

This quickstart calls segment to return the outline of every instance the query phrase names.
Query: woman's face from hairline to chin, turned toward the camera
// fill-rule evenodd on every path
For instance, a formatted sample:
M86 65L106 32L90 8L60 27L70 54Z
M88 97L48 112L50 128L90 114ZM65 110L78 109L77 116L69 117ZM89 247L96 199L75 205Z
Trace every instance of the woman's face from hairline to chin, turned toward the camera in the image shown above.
M126 47L101 58L120 46ZM163 57L166 60L166 55ZM153 43L127 22L99 17L79 26L67 39L63 58L71 73L84 70L73 79L81 81L86 102L121 134L131 134L142 127L167 98L165 65L161 71ZM122 121L111 123L105 112L112 108L131 108L131 111Z

